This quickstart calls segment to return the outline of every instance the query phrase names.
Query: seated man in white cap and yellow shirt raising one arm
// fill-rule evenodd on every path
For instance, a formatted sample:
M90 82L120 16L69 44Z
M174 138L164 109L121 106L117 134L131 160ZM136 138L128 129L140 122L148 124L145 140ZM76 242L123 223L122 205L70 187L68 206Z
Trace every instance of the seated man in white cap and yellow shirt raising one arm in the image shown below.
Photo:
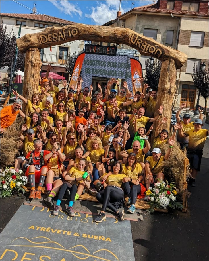
M146 189L148 190L150 184L157 182L159 180L164 180L163 167L162 162L164 160L168 160L171 154L171 150L173 148L173 144L175 143L175 137L171 136L168 140L168 150L165 156L161 156L161 151L159 148L154 148L152 150L152 156L149 156L145 160L145 184ZM153 177L154 176L154 177Z

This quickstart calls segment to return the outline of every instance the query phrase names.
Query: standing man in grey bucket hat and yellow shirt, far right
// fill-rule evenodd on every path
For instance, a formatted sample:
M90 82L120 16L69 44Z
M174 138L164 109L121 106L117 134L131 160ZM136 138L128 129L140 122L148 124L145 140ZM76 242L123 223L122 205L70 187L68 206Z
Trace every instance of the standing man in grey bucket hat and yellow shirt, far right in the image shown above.
M187 149L187 158L189 159L190 167L192 168L192 178L189 180L189 184L192 187L196 187L195 180L198 171L200 171L203 147L206 141L206 137L208 136L208 130L202 129L204 125L201 119L195 119L193 122L194 129L190 129L189 131L183 133L183 126L179 127L179 135L180 137L188 137L188 149Z

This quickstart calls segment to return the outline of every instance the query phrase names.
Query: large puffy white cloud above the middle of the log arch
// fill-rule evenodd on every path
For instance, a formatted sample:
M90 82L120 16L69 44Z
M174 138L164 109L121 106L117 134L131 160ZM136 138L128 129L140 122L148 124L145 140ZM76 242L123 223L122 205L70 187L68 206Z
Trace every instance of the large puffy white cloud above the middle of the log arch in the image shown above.
M96 7L90 7L90 14L85 14L85 17L92 19L96 25L103 25L104 23L116 19L117 11L119 11L120 1L103 1L96 2ZM125 13L129 10L121 7L121 12Z

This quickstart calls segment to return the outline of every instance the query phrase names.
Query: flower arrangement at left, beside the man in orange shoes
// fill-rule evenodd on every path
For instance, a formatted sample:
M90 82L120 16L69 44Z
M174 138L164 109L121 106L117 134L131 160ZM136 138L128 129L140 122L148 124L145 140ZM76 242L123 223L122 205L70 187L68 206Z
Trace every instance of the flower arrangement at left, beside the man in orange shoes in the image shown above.
M15 193L25 193L25 189L22 186L28 183L28 178L22 175L23 171L15 168L7 167L5 170L1 170L1 198L11 197Z

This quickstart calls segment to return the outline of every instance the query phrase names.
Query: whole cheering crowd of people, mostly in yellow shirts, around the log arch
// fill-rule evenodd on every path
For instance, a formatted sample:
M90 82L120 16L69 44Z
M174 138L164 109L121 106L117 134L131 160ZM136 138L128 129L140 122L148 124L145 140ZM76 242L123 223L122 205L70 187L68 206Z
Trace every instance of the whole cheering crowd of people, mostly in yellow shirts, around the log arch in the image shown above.
M136 89L135 80L132 93L126 82L120 86L112 78L104 93L98 84L100 91L95 96L92 85L82 89L82 78L77 86L68 88L67 81L63 81L63 88L59 89L59 81L49 77L50 69L48 64L46 77L40 79L38 91L30 100L13 91L14 104L1 110L1 133L18 114L25 120L18 134L22 144L15 168L22 168L28 176L29 199L41 199L45 183L44 202L52 207L57 196L53 215L58 215L61 201L67 196L67 212L73 217L73 204L87 189L102 204L102 210L93 219L95 222L105 219L107 208L123 221L124 210L120 209L124 205L124 193L128 196L127 211L134 213L137 197L143 198L154 182L164 180L162 162L169 160L176 139L182 149L188 146L193 168L191 184L195 185L208 136L208 130L202 129L200 109L200 119L195 122L189 122L189 114L181 120L183 103L169 137L169 130L163 129L167 122L166 117L161 117L164 108L156 108L157 90L147 92L149 86L143 78L140 78L142 93ZM158 114L154 117L155 111ZM158 126L154 130L155 121ZM155 133L152 144L151 131ZM164 142L168 150L162 155L160 147Z

